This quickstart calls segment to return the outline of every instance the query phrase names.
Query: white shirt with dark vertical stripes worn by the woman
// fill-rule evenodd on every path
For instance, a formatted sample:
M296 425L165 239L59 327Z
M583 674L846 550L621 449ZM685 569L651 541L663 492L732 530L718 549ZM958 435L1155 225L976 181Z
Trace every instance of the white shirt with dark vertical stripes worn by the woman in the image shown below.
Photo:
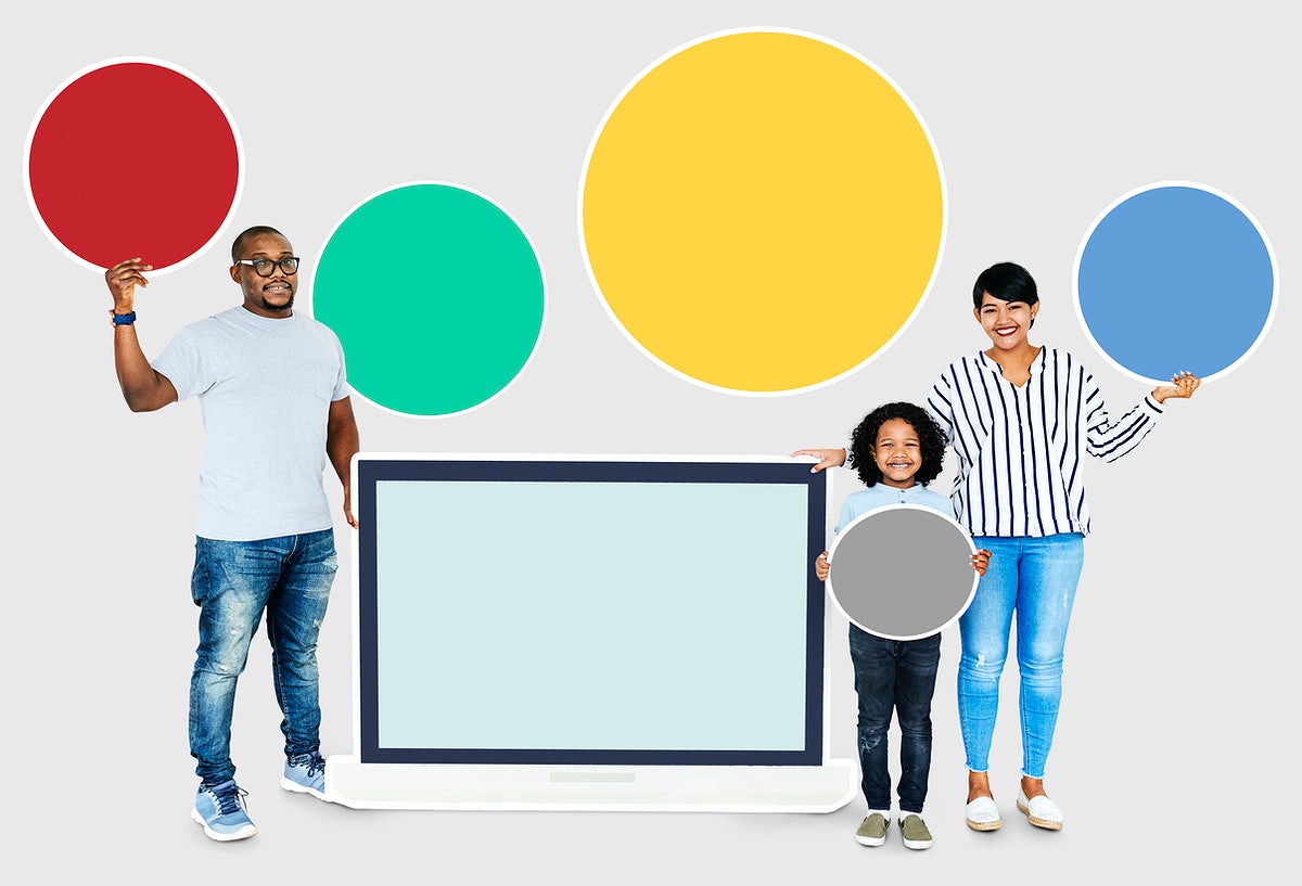
M1147 396L1109 420L1094 376L1052 347L1021 388L986 354L950 363L927 407L958 453L950 500L974 536L1088 535L1082 457L1121 458L1163 412Z

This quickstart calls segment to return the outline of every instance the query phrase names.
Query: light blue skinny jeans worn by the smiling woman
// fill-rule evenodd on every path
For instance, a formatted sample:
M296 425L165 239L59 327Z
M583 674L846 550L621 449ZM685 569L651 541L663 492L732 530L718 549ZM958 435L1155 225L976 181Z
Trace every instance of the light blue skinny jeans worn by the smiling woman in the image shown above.
M1022 774L1043 778L1062 697L1062 649L1085 562L1083 536L979 536L973 544L990 550L991 558L971 605L958 619L958 719L967 768L990 768L999 678L1016 614Z

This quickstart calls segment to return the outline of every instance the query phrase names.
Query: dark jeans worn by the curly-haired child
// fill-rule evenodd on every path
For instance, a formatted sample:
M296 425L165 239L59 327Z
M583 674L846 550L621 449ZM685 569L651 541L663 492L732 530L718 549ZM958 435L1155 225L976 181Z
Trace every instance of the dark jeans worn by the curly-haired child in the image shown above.
M940 635L884 640L850 624L850 661L859 696L859 773L870 809L891 809L887 730L900 721L900 813L922 813L931 773L931 696Z

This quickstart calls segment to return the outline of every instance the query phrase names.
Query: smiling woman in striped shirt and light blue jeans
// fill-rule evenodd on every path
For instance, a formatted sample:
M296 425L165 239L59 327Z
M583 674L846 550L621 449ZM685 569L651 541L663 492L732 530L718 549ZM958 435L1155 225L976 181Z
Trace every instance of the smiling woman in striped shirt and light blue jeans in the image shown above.
M1094 377L1070 354L1027 340L1039 301L1021 265L1005 262L983 271L973 286L973 315L991 347L950 363L927 398L958 454L956 515L973 543L991 552L958 622L958 718L969 769L966 816L974 830L1004 824L987 768L1014 615L1023 755L1017 808L1038 827L1062 827L1062 811L1044 790L1044 765L1090 531L1082 457L1121 458L1155 427L1167 399L1187 398L1200 384L1180 372L1111 419ZM818 457L815 470L845 462L840 449L793 454Z

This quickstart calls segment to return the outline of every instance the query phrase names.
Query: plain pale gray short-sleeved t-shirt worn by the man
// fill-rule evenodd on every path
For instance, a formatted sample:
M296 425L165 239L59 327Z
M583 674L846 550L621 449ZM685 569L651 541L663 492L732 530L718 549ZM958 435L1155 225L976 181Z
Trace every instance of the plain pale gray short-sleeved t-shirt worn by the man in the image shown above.
M322 487L332 401L349 396L331 329L243 306L193 323L152 363L177 397L198 397L203 464L195 533L254 541L333 526Z

